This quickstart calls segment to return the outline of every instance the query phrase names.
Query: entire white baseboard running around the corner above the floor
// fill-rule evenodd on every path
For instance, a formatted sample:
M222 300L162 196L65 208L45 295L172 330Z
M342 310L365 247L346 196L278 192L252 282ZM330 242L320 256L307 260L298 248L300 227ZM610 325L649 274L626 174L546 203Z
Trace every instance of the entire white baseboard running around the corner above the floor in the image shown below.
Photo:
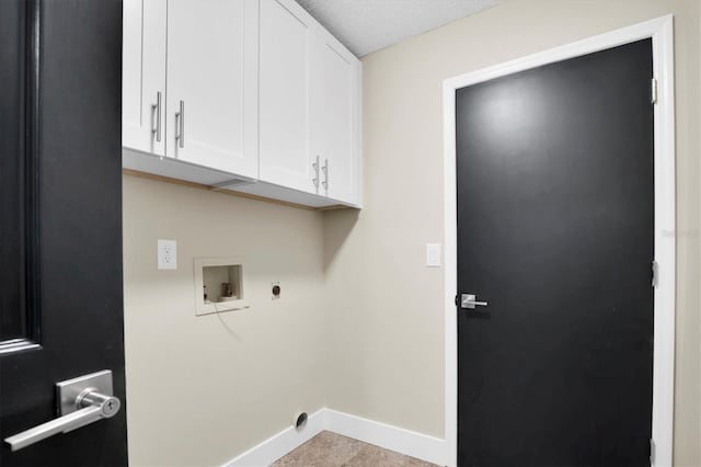
M303 430L298 431L292 426L283 430L223 467L268 466L324 430L433 464L450 464L451 453L447 452L445 440L336 410L321 409L309 417Z

